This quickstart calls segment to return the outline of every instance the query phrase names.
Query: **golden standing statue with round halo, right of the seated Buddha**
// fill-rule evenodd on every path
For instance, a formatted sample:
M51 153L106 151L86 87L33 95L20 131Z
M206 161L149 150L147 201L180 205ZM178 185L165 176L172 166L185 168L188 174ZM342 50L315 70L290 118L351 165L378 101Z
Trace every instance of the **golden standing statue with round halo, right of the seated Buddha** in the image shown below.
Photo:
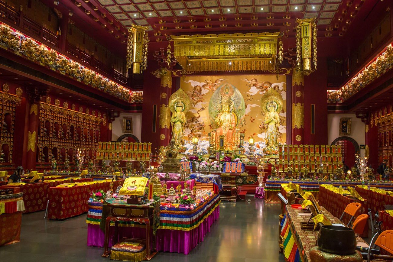
M279 127L281 125L279 112L283 108L283 97L270 88L261 99L262 112L265 114L266 149L265 153L271 154L278 150Z

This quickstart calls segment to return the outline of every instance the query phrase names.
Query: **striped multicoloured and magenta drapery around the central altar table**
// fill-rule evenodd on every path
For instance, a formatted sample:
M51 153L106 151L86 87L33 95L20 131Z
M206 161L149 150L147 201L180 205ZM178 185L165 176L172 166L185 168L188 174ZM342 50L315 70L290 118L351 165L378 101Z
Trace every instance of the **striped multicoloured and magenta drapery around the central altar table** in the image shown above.
M198 243L202 242L210 231L211 225L220 216L220 196L215 194L202 205L192 211L180 211L175 208L160 207L160 225L155 236L157 251L169 251L189 254ZM87 245L103 247L104 233L99 228L102 214L102 203L89 203L89 212L86 218ZM119 232L122 237L143 237L144 229L124 225ZM111 227L112 228L112 227ZM111 232L113 236L113 229ZM110 246L117 241L113 240ZM151 240L152 243L152 240Z

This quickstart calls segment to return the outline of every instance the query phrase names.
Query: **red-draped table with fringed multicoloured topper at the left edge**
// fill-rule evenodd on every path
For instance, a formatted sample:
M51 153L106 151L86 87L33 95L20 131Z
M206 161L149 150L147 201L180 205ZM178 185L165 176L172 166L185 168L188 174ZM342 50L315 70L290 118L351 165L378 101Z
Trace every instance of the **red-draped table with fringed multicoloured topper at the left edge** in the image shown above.
M0 196L0 246L20 241L23 193Z

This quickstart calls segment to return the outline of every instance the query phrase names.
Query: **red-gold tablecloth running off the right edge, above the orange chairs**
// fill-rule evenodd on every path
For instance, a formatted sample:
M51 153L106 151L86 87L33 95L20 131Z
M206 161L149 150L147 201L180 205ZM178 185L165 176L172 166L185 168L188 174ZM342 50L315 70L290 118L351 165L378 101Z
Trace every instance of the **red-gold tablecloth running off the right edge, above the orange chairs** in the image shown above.
M385 210L385 205L393 205L393 196L369 190L366 186L357 186L355 190L360 196L368 199L369 208L373 216L378 213L378 211Z

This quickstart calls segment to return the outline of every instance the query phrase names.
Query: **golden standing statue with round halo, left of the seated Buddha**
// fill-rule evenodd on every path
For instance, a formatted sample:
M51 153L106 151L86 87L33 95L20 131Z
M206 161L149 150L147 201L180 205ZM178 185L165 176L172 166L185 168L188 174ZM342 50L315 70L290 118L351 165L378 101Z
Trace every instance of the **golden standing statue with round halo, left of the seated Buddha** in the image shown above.
M184 145L184 125L186 122L185 113L190 107L190 100L188 95L180 88L169 97L169 109L172 112L171 126L172 138L175 141L176 147Z

